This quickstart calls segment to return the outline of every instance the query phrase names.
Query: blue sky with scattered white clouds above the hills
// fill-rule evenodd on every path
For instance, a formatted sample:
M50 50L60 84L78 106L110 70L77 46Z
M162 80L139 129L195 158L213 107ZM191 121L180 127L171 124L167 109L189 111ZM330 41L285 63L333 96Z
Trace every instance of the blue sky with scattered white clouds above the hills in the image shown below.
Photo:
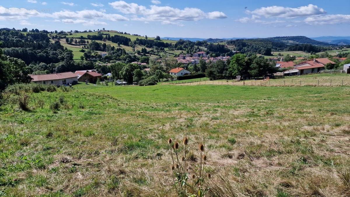
M350 36L350 0L6 0L0 27L155 37Z

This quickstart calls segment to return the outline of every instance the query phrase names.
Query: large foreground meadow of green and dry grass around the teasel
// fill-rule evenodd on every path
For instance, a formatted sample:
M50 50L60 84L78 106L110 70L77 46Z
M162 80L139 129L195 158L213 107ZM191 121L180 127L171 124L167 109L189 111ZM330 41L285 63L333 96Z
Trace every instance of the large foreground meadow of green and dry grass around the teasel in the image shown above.
M190 165L205 143L206 196L350 195L349 87L73 87L29 111L5 96L1 195L175 197L166 141L184 135Z

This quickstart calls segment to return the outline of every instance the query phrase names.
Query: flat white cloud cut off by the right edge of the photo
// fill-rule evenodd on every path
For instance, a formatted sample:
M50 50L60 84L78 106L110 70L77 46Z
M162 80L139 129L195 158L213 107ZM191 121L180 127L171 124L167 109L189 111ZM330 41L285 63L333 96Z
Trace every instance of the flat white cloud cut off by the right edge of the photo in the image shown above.
M317 17L310 16L306 18L304 22L310 25L341 24L341 23L350 24L350 15L329 14L329 15L322 15Z

